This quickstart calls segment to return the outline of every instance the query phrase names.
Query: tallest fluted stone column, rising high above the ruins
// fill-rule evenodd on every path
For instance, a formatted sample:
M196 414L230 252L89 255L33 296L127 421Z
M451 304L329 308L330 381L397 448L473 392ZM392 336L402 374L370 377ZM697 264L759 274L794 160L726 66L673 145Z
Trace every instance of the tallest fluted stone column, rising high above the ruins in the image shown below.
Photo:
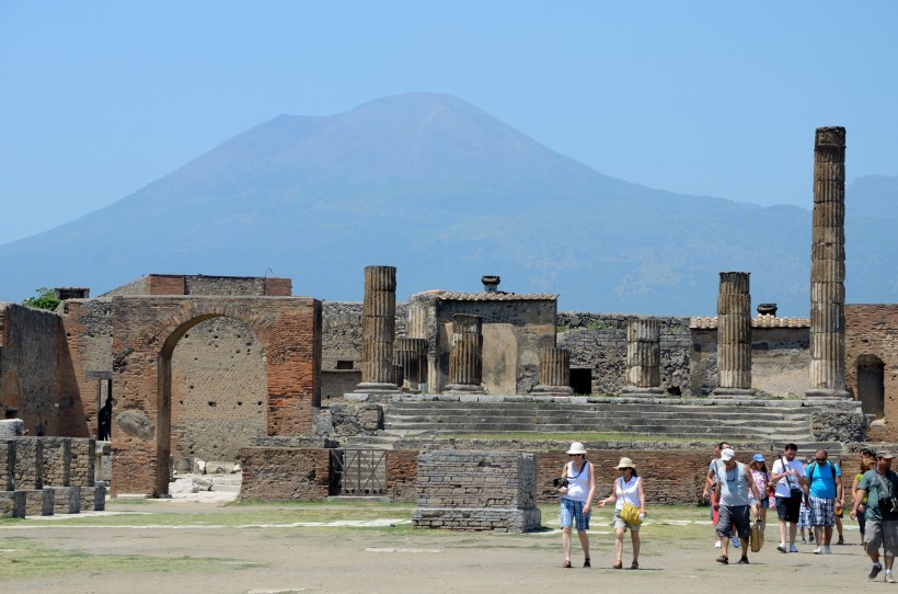
M817 128L810 247L810 398L845 390L845 129Z

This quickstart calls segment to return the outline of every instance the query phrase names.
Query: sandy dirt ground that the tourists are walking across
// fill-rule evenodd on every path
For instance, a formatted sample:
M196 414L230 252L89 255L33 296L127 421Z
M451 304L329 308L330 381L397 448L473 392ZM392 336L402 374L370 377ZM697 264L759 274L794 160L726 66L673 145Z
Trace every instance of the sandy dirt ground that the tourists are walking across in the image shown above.
M143 503L147 506L158 504ZM226 560L212 569L119 572L115 568L90 574L64 574L10 580L3 576L0 551L0 592L92 593L216 592L216 593L421 593L442 592L666 592L714 593L728 587L779 592L867 591L891 587L867 582L870 563L859 546L856 526L847 523L844 546L833 555L816 556L813 546L783 555L775 541L750 555L749 566L721 566L712 547L711 528L692 530L690 539L653 537L643 528L638 571L612 570L613 536L609 527L590 530L592 568L562 569L561 535L546 530L526 535L404 530L341 527L269 527L217 525L232 513L220 502L169 503L191 505L208 513L207 526L159 527L34 527L28 522L0 525L0 538L27 539L54 550L94 555L154 556L164 558L214 557ZM543 525L556 518L543 517ZM768 528L768 538L775 524ZM629 536L624 560L629 566ZM735 561L738 552L730 550ZM257 564L256 564L257 563ZM252 567L245 567L246 564ZM7 566L10 567L10 566ZM898 587L896 589L898 592Z

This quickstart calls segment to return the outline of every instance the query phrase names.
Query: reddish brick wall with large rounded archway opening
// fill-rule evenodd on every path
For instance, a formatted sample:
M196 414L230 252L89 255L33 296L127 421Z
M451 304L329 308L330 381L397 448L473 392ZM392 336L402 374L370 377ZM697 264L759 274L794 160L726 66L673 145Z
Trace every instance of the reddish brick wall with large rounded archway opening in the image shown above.
M112 494L168 492L171 357L197 323L232 318L265 351L268 435L303 435L320 404L321 302L308 297L114 297L113 393L116 414L156 425L152 438L113 432Z

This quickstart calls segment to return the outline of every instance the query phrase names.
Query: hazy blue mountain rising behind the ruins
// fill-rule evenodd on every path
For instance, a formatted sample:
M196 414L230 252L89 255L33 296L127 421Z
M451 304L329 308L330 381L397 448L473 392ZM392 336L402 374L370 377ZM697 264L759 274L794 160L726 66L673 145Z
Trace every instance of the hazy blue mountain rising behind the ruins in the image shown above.
M808 178L811 150L808 148ZM602 175L444 94L329 117L281 115L115 204L0 247L0 298L92 295L150 273L287 276L295 295L361 299L362 269L430 288L557 293L562 309L713 315L718 272L807 316L808 209L763 208ZM848 191L848 299L898 300L887 265L898 178Z

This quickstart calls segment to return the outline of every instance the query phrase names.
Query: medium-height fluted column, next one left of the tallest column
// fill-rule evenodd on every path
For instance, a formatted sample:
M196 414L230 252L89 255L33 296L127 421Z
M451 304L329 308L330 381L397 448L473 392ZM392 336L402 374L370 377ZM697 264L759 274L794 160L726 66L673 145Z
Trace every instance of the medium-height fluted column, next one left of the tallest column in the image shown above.
M717 296L715 396L753 396L751 389L751 295L747 272L722 272Z

